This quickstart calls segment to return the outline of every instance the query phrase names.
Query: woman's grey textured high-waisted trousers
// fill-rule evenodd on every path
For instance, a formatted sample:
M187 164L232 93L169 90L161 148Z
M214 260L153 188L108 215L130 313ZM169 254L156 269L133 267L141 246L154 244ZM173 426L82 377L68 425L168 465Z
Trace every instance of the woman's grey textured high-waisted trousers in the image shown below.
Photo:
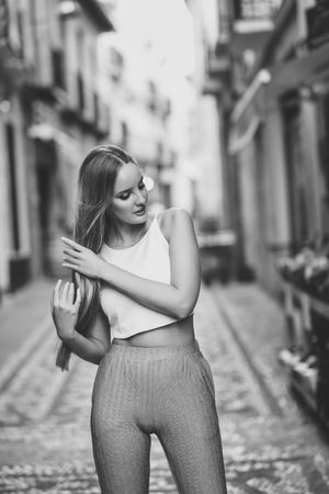
M92 391L91 435L102 494L147 494L150 434L180 494L226 494L211 367L197 341L112 345Z

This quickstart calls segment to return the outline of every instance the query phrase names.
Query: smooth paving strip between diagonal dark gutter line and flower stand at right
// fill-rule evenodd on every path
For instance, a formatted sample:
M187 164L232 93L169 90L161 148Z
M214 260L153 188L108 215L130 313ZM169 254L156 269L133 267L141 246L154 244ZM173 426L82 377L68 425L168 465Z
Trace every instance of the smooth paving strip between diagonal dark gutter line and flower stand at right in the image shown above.
M276 416L297 408L286 394L286 375L277 361L286 344L280 303L256 283L214 284L212 294Z

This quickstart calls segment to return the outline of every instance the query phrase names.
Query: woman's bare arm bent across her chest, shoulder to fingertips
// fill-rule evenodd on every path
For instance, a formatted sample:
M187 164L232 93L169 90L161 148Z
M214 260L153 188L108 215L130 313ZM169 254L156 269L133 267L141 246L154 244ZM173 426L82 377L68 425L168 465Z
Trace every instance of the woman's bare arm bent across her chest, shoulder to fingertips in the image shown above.
M87 276L95 276L136 302L173 317L186 317L200 291L198 247L189 213L180 209L166 212L169 223L170 284L148 280L104 261L89 249L69 240L77 250L66 249L65 266ZM78 246L78 247L77 247ZM88 250L88 252L86 252ZM98 260L95 259L98 258Z

